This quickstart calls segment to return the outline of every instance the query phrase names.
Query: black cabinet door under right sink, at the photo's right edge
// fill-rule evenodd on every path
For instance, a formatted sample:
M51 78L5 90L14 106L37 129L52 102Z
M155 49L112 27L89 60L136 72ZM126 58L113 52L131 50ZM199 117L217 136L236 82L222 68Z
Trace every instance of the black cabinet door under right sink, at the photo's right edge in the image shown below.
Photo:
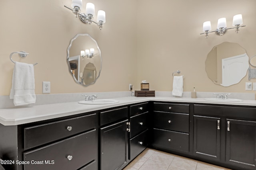
M226 162L256 169L256 122L226 119Z

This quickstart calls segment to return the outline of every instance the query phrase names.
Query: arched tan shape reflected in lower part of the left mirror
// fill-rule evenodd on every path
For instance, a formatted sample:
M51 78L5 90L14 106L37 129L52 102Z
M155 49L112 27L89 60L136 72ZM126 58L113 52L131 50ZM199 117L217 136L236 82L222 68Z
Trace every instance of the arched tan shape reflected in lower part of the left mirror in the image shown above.
M90 84L95 81L96 78L96 67L92 63L86 64L84 67L83 79L84 84Z

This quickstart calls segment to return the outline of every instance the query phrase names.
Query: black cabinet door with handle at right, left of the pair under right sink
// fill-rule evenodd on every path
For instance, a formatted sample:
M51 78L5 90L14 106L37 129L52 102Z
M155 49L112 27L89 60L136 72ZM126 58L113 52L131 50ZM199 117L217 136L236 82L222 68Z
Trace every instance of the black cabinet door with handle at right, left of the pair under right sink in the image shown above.
M220 160L220 118L194 115L194 155Z

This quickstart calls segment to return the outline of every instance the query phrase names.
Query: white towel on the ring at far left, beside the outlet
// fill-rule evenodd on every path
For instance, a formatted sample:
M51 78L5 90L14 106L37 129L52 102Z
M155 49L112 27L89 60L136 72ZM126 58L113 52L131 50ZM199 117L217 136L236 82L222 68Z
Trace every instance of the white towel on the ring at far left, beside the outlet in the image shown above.
M33 64L15 62L10 99L13 99L14 106L36 103Z

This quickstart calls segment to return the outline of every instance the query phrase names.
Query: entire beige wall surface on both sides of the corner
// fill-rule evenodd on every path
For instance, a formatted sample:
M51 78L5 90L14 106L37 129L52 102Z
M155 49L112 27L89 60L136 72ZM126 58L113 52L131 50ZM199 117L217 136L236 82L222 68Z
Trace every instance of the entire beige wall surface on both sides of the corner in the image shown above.
M85 10L86 0L83 0ZM172 72L184 75L184 91L245 91L248 76L239 84L215 85L205 71L207 54L224 41L239 43L248 56L256 55L255 0L90 0L97 10L106 11L106 24L83 24L64 5L71 0L1 0L0 2L0 95L9 95L14 51L30 53L26 59L13 55L15 61L38 64L35 68L36 94L42 94L42 81L51 82L51 93L126 91L132 83L140 89L141 80L151 90L171 91ZM242 14L240 33L234 30L222 37L204 38L202 24ZM76 84L66 62L67 48L77 33L89 33L102 52L102 72L97 82L83 87ZM251 80L256 82L256 79ZM254 93L254 91L251 91Z

